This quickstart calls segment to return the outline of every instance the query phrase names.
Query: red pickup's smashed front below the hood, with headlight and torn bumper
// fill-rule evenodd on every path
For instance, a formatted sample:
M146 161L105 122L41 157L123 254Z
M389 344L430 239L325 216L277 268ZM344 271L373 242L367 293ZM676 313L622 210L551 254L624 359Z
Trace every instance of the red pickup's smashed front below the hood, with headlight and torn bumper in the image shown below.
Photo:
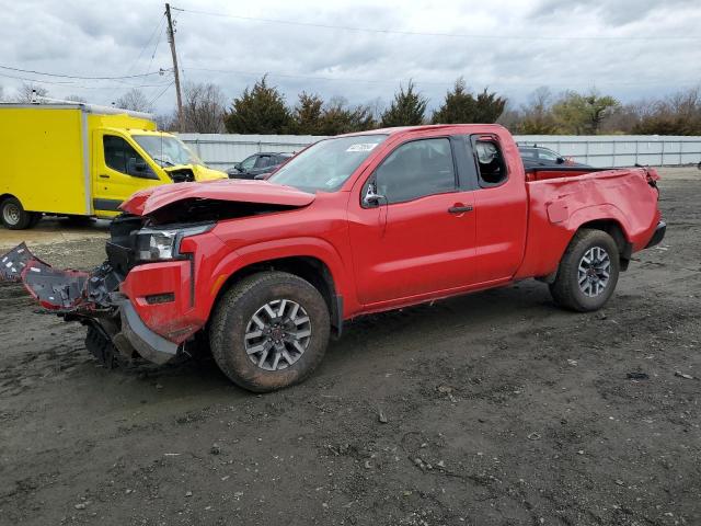
M54 268L22 243L0 256L0 281L23 283L46 312L88 325L87 347L105 365L139 356L164 364L205 324L193 315L194 262L181 243L212 226L153 227L124 215L92 273Z

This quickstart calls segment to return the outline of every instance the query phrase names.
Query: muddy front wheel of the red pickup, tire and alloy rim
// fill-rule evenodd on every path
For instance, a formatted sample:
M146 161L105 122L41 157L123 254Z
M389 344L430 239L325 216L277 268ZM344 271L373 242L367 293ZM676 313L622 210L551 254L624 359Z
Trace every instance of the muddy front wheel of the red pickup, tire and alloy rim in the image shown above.
M248 276L219 300L211 354L225 375L254 392L306 379L329 343L329 308L309 282L285 272Z

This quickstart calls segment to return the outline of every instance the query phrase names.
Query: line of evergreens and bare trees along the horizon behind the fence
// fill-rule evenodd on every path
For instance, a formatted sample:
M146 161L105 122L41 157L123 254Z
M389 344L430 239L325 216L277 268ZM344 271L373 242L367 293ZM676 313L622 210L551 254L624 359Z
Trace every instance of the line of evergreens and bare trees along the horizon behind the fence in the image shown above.
M31 101L32 90L48 94L42 87L25 83L14 101ZM1 94L0 90L0 99ZM80 96L69 99L84 102ZM152 102L138 89L127 91L114 104L153 113ZM162 129L210 134L337 135L389 126L499 123L521 135L701 135L701 88L629 104L596 90L554 94L539 88L528 102L513 106L505 96L487 89L474 93L459 78L436 110L429 112L428 104L410 80L399 87L386 107L377 102L349 104L340 96L324 101L307 91L289 105L264 76L230 103L214 83L186 83L182 122L175 111L159 115L157 121Z

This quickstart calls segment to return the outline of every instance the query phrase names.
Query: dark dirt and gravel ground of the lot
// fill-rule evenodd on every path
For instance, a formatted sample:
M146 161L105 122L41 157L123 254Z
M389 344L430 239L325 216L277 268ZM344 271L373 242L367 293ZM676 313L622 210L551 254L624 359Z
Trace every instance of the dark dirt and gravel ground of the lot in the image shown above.
M0 524L700 525L701 172L662 173L667 238L604 311L524 282L364 318L273 395L106 370L0 285ZM103 259L104 226L37 232Z

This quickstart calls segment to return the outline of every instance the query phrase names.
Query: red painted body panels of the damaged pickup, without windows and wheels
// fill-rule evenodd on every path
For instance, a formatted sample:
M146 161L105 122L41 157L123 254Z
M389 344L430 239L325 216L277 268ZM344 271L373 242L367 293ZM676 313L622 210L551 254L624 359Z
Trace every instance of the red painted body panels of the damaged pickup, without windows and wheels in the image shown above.
M371 132L377 134L378 132ZM315 196L263 181L157 186L123 208L148 214L184 198L269 203L302 208L220 221L184 240L191 261L136 266L122 285L145 323L173 342L204 327L227 279L280 258L309 256L331 272L344 298L343 318L388 310L553 272L584 224L612 220L634 251L659 220L654 170L531 172L526 175L509 133L496 125L420 126L380 130L390 137L334 193ZM363 208L363 186L400 144L415 138L489 134L508 165L501 186ZM452 215L452 206L473 210ZM191 267L191 265L193 265ZM195 276L194 284L191 282ZM194 290L194 297L191 296ZM148 305L151 294L173 293Z

